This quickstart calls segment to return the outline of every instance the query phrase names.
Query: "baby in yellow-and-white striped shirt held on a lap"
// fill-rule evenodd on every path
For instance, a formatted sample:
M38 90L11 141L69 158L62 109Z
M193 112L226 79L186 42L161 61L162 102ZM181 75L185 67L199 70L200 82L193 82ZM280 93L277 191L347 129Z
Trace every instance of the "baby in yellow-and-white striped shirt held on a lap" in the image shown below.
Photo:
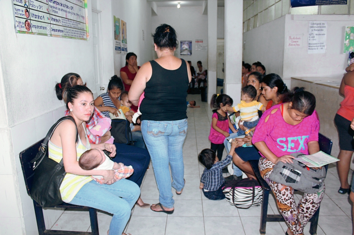
M248 85L242 88L241 91L241 102L235 107L222 107L224 112L238 112L240 111L241 123L245 127L251 129L257 126L259 121L258 110L265 111L265 107L261 102L253 100L257 96L257 90L254 86ZM238 129L237 135L244 135L245 131Z

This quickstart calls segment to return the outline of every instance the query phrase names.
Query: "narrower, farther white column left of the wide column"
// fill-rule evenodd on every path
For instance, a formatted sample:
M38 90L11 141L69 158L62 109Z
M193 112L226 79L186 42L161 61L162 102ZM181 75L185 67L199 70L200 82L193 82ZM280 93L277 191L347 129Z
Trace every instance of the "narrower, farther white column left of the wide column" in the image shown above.
M208 102L216 93L217 0L208 0Z

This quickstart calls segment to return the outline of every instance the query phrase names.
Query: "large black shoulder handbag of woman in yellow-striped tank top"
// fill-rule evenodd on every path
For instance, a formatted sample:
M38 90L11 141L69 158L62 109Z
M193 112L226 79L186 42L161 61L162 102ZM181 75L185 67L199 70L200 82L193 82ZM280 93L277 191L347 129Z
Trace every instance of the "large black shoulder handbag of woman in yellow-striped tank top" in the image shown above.
M43 143L39 147L39 152L32 159L33 163L33 185L31 189L31 198L42 207L51 207L63 203L60 194L60 185L66 174L63 159L57 163L48 157L48 141L55 128L64 120L71 120L75 123L72 116L66 116L59 119L48 131ZM76 127L76 123L75 123ZM78 128L76 127L76 143L78 142Z

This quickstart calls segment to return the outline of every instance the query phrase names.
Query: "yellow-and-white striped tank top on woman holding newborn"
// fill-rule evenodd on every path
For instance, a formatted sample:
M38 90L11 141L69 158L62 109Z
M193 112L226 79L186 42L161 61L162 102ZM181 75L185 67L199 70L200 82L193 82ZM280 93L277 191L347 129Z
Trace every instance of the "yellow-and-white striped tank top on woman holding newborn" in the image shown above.
M82 123L84 125L84 123ZM84 126L85 127L85 126ZM82 144L81 139L79 138L79 143L76 145L76 156L77 161L82 153L86 150L91 149L89 139L87 139L86 128L85 128L85 137L86 137L86 146ZM56 146L50 140L48 141L48 157L53 159L56 162L60 162L63 159L63 149ZM71 200L75 197L76 193L79 192L80 188L92 180L91 176L82 176L74 175L67 173L64 176L63 182L60 185L60 193L62 200L65 203L70 203Z

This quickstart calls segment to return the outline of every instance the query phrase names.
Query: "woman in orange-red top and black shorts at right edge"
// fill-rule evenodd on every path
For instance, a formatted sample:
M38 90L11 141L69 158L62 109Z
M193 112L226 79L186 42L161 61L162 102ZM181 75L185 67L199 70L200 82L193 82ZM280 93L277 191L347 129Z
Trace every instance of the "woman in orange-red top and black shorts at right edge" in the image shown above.
M350 66L348 67L350 68ZM338 193L346 194L350 192L348 183L348 174L350 167L350 160L354 152L353 135L354 131L349 127L350 122L354 118L354 71L348 70L342 79L339 88L339 94L344 96L341 102L341 107L338 109L335 116L335 123L339 134L339 154L337 162L337 170L341 187Z

